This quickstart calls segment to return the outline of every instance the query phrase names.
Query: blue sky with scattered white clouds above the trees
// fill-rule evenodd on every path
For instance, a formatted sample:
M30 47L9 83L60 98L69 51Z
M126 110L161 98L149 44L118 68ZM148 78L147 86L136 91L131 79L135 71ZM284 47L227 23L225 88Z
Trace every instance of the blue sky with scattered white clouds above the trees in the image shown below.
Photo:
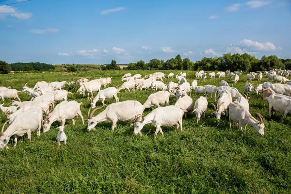
M1 1L1 0L0 0ZM0 2L0 60L128 64L178 54L291 58L291 0Z

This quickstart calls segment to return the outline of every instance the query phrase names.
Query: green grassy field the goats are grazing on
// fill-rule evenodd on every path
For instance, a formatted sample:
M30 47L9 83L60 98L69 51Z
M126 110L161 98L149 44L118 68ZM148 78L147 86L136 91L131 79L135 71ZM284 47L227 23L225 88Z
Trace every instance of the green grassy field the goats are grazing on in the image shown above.
M113 77L110 86L115 87L122 84L121 76L127 72L95 70L65 76L62 73L0 75L0 86L21 90L26 82L33 87L37 81ZM144 76L153 71L130 73ZM187 71L190 83L194 73ZM244 92L245 75L240 75L241 80L234 85L241 93ZM221 80L199 79L198 85L219 86ZM229 77L224 80L231 83ZM176 80L164 82L169 81ZM261 83L264 81L265 78ZM83 103L81 112L86 118L89 100L73 92L69 100ZM123 90L118 97L120 101L144 103L151 93L151 90L134 93ZM19 97L29 100L28 93L19 93ZM197 97L193 94L191 97L195 102ZM175 104L176 98L170 101ZM106 104L113 102L113 99L105 100ZM176 131L175 127L162 127L164 136L159 133L156 139L151 124L144 127L143 136L133 136L131 122L118 122L114 132L111 123L102 122L97 124L96 131L87 132L87 124L82 125L79 118L75 126L71 120L66 122L67 145L58 146L55 138L59 123L55 122L40 137L33 132L31 142L25 135L18 138L15 149L11 141L10 149L0 152L0 193L290 193L290 115L284 124L281 124L283 115L280 113L275 113L271 119L262 97L254 94L249 101L250 112L264 116L265 136L248 126L242 137L235 125L229 129L226 116L217 121L213 114L210 115L213 112L211 102L214 99L209 99L206 117L202 117L199 124L190 114L183 120L183 132ZM5 100L4 105L10 106L11 99ZM100 101L97 106L101 106ZM148 109L145 114L149 112ZM4 113L0 113L0 127L5 120Z

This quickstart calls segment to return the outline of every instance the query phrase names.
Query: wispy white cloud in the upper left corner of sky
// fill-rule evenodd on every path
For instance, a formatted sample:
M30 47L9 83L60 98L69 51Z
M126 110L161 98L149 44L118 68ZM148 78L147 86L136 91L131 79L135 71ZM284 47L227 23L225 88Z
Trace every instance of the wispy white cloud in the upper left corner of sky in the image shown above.
M29 19L32 17L32 13L21 12L15 7L2 5L0 6L0 18L5 18L5 16L12 16L18 19Z

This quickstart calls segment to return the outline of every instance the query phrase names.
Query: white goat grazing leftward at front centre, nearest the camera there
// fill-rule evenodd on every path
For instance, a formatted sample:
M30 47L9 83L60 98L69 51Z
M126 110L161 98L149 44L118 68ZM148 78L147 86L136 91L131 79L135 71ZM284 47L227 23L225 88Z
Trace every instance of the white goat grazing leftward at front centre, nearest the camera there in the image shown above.
M151 113L147 114L144 118L141 118L142 115L136 116L134 120L134 131L133 135L140 134L141 130L148 123L151 123L156 127L155 138L157 137L158 132L160 131L163 135L161 126L174 126L177 125L176 130L180 127L181 132L182 128L182 117L184 112L177 106L166 106L158 107L153 110Z

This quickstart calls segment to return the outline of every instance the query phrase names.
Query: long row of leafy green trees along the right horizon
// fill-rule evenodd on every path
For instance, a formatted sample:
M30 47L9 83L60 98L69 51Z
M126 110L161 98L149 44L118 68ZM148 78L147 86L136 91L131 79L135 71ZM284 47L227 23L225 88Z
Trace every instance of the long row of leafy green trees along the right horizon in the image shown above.
M275 55L263 56L257 59L250 54L226 53L221 57L204 57L201 61L193 63L188 57L182 59L178 54L167 61L151 59L149 63L138 61L129 63L128 70L207 70L207 71L268 71L271 69L290 69L291 59L279 59Z

